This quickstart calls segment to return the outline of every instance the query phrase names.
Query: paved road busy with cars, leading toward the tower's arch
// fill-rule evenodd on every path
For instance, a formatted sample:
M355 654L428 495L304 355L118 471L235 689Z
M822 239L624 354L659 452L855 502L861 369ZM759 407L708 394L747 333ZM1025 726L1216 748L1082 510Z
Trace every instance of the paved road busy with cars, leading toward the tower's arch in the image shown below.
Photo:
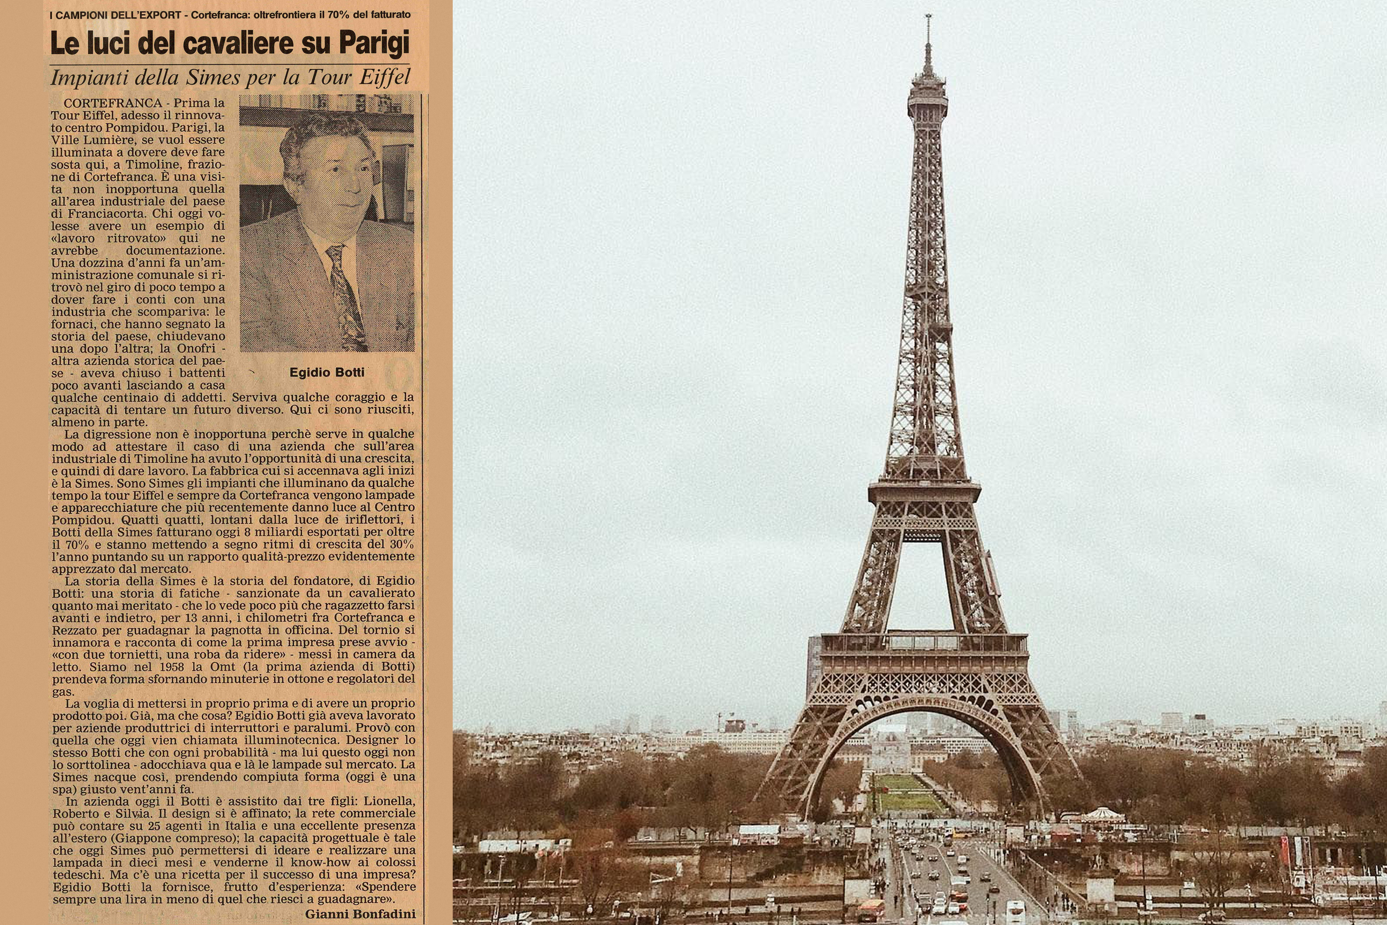
M949 850L954 857L949 857ZM902 922L936 925L943 919L961 919L970 925L993 925L1006 919L1008 900L1026 903L1026 925L1040 921L1040 910L1000 864L986 851L986 843L975 839L958 839L950 849L940 842L921 839L918 846L908 847L906 836L896 835L893 856L897 863L888 865L886 915ZM915 856L920 856L918 860ZM938 860L929 860L936 857ZM931 907L936 893L950 893L950 881L958 875L960 857L967 857L968 886L960 888L968 893L968 911L958 915L932 915ZM939 871L939 879L929 879L931 871ZM989 881L983 881L983 875ZM999 892L990 892L996 885Z

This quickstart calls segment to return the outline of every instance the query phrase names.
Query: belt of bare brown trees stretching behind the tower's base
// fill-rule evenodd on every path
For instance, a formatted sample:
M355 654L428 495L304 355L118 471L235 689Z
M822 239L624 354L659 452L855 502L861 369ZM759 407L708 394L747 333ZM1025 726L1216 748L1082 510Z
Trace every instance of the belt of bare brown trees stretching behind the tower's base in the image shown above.
M624 753L570 771L566 756L497 766L474 760L470 736L454 736L454 827L462 838L490 831L610 829L619 840L645 825L720 831L730 822L767 821L781 806L753 803L771 756L730 754L714 745L681 757ZM1247 767L1175 749L1105 745L1078 756L1087 789L1057 795L1064 809L1108 806L1133 822L1209 827L1330 825L1387 831L1387 747L1368 749L1361 768L1334 775L1308 757L1269 749ZM832 802L850 804L861 768L835 761L811 817ZM1011 807L1011 785L994 753L951 756L925 774L972 804Z

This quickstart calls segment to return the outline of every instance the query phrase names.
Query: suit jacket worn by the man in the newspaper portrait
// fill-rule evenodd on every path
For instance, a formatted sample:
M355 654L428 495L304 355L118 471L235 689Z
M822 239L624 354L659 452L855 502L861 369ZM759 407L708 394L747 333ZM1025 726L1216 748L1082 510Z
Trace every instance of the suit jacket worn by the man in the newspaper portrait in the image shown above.
M356 229L356 306L370 352L415 349L415 239L391 225ZM298 209L241 229L241 352L341 352L323 262Z

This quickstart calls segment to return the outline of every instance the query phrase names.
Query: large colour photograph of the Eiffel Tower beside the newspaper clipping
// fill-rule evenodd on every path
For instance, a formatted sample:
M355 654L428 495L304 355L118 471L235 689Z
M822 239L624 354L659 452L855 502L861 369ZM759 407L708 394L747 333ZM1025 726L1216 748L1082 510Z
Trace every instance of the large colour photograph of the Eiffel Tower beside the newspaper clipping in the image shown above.
M465 19L455 922L1387 917L1381 10Z

